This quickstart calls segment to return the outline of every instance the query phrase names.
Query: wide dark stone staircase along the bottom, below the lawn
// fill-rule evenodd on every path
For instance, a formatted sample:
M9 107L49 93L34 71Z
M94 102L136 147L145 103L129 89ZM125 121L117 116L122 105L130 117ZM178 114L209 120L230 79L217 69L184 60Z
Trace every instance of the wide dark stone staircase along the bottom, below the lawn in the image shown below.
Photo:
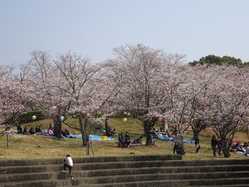
M249 160L182 161L131 156L74 159L74 178L62 160L0 161L0 187L249 186Z

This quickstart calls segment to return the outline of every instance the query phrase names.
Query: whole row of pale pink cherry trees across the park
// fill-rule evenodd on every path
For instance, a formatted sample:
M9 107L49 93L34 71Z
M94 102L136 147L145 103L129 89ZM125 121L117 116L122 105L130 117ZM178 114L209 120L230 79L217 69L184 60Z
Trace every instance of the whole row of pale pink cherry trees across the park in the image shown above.
M234 63L193 66L184 63L183 55L137 45L114 49L112 59L98 64L73 53L55 58L35 51L16 72L0 66L1 123L18 125L22 112L39 109L52 114L60 137L60 116L74 114L84 145L88 118L99 112L143 117L146 133L154 117L179 133L191 126L195 136L213 127L227 148L236 130L247 124L249 72Z

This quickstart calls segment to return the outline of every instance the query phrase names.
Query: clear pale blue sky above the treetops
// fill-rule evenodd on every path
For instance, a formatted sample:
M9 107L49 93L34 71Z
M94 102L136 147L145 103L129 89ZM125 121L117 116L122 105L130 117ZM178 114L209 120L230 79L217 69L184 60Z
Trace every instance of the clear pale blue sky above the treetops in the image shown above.
M209 54L249 61L248 0L0 0L0 64L35 50L103 61L144 44L186 61Z

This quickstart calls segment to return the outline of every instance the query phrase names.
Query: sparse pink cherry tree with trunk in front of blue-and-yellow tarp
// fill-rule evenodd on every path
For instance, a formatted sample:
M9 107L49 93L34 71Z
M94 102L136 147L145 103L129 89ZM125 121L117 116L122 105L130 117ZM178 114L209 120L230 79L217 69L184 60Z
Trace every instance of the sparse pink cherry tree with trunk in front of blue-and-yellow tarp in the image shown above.
M64 83L60 89L70 101L70 111L79 117L82 142L87 145L89 117L99 111L110 112L108 102L119 92L119 79L112 64L92 64L71 53L57 59L56 67Z

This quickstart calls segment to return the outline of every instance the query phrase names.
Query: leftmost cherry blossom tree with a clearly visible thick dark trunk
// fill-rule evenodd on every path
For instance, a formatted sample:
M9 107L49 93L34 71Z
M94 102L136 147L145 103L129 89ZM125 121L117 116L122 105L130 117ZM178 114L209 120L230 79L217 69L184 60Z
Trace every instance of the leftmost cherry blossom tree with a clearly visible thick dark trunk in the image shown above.
M68 110L70 101L62 89L64 82L54 59L44 51L34 51L30 62L21 70L20 80L28 85L30 107L51 113L55 136L61 138L61 116Z

